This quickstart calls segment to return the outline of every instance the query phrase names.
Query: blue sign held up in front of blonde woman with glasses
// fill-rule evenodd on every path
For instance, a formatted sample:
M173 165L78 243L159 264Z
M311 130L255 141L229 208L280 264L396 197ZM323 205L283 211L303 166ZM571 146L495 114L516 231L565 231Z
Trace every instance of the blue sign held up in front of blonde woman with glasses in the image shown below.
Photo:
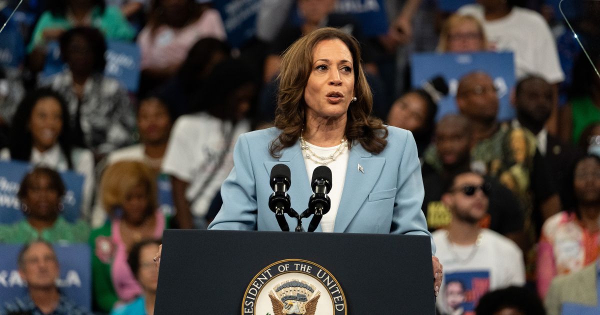
M509 99L511 89L515 86L512 52L415 53L411 65L413 87L422 86L436 76L442 76L448 83L450 91L438 104L436 120L448 113L458 112L455 100L458 80L473 71L484 71L494 80L500 98L499 121L514 118L515 112Z

